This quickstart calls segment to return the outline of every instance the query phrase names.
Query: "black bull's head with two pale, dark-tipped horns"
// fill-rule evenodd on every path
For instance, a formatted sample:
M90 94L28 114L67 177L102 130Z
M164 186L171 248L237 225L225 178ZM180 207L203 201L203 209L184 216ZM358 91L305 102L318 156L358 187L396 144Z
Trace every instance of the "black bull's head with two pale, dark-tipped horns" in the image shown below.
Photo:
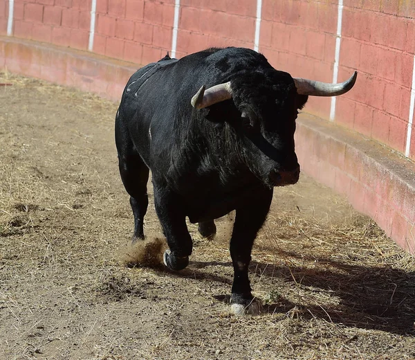
M252 80L252 78L256 78ZM250 73L209 89L205 86L193 96L196 109L233 99L239 111L241 127L252 147L253 172L268 186L284 186L299 179L299 165L294 147L295 119L308 96L339 96L356 82L357 72L349 80L328 84L272 69ZM258 151L259 150L259 151ZM251 161L250 161L251 162Z

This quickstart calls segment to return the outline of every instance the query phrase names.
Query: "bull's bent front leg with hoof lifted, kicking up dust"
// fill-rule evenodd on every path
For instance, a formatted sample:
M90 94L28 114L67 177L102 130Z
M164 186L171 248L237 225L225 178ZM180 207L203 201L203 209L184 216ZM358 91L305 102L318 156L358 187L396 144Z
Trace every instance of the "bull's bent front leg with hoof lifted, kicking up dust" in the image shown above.
M154 183L154 206L169 249L163 255L164 264L172 270L182 270L189 264L192 237L187 229L183 201L165 186Z

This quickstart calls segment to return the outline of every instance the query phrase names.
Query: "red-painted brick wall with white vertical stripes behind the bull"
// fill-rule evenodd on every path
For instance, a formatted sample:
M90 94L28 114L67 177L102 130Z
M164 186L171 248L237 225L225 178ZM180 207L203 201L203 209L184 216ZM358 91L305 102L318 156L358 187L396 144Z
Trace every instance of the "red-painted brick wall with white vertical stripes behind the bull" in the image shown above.
M0 0L0 35L8 0ZM337 99L335 122L405 151L415 48L415 1L344 0L338 81L358 70ZM97 0L93 52L146 64L172 50L174 0ZM15 0L12 35L86 50L91 0ZM254 48L257 1L181 0L176 57L209 46ZM262 0L259 51L277 69L331 82L337 0ZM330 98L306 111L329 118ZM412 125L414 126L414 125ZM415 159L415 129L410 159Z

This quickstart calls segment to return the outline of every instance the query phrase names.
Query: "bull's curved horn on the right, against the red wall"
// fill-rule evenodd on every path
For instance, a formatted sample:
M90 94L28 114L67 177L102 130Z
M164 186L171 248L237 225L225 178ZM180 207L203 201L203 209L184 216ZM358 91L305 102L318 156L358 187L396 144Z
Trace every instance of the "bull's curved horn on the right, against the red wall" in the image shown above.
M358 72L355 71L349 80L339 84L330 84L328 82L294 78L297 93L300 95L311 96L338 96L347 93L356 82Z

